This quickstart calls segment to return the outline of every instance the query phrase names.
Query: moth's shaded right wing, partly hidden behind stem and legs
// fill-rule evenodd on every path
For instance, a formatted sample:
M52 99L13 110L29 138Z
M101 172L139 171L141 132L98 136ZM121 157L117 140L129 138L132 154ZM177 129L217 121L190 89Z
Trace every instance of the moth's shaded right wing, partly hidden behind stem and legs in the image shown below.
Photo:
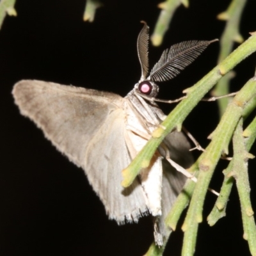
M171 132L164 139L164 144L168 147L170 158L183 168L189 168L193 164L193 156L189 152L190 144L182 132ZM165 156L164 151L159 148L159 152ZM186 182L186 177L175 170L166 159L163 159L163 186L162 186L162 215L156 219L155 239L158 244L163 244L170 235L170 228L164 225L164 220L170 212L177 196Z

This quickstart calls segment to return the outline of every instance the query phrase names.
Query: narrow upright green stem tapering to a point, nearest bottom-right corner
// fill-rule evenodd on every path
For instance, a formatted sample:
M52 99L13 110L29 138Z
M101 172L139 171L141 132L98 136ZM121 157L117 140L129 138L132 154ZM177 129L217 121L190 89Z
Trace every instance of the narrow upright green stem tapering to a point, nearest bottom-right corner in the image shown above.
M243 137L243 118L236 127L233 138L234 168L230 175L236 179L236 186L241 203L244 239L248 240L250 252L256 255L256 226L250 200L250 183L248 178L248 154Z

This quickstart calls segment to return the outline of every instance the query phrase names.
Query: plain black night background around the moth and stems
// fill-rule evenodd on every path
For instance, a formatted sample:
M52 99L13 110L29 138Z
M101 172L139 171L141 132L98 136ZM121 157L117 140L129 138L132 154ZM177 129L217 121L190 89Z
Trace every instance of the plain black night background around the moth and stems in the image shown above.
M7 17L0 31L1 172L0 255L143 255L152 243L150 218L138 225L118 227L109 221L83 170L61 156L42 131L19 115L11 95L20 79L41 79L119 93L125 96L140 79L136 40L146 20L151 32L159 1L103 1L95 22L83 22L84 0L18 0L17 17ZM220 38L225 22L216 15L230 1L191 0L188 9L175 13L164 44L150 45L151 67L166 47L183 40ZM256 30L255 6L248 1L241 34ZM161 84L159 98L175 99L182 90L216 65L214 43L168 83ZM253 76L255 55L236 68L232 91ZM161 105L166 113L173 106ZM189 115L186 127L203 147L218 123L215 102L202 102ZM86 131L85 131L86 132ZM255 152L255 150L254 150ZM253 153L253 150L252 150ZM97 161L97 159L95 159ZM219 190L223 166L211 187ZM255 160L250 161L252 203L256 209ZM200 225L195 255L250 255L243 239L236 188L227 217L209 227L206 217L214 195L207 195L204 223ZM182 222L180 221L180 225ZM180 255L182 232L172 235L164 255Z

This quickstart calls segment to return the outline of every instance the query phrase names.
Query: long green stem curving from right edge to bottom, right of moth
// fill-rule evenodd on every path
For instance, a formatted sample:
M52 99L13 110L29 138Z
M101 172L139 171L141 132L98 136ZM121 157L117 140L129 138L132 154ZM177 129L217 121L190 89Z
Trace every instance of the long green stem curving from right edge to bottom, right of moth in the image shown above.
M190 256L195 252L196 234L198 223L202 222L202 210L207 188L212 174L218 163L221 154L228 153L228 144L236 128L239 119L243 115L243 109L247 102L256 95L256 81L250 79L236 97L228 105L220 124L211 134L211 143L205 152L198 158L196 164L200 169L195 190L191 198L188 213L182 230L184 230L184 241L182 255Z

